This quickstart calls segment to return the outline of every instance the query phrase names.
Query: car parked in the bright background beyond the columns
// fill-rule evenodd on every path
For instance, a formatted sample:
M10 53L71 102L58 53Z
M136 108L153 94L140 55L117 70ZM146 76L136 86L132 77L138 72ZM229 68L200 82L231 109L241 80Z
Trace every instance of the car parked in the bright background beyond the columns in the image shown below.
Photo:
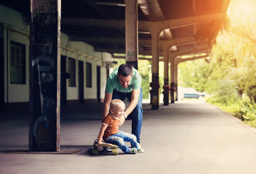
M186 87L178 86L178 99L185 99L185 98L199 99L205 96L206 96L206 93L199 92L194 88L186 88Z

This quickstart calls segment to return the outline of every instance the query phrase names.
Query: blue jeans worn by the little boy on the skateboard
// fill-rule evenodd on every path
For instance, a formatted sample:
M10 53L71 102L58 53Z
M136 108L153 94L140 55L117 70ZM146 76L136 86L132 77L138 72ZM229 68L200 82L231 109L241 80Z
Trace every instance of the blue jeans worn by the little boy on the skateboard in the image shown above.
M138 149L138 143L136 142L136 136L131 133L119 131L114 135L107 138L106 143L117 145L124 153L129 152L129 147L125 146L124 142L130 142L131 147Z

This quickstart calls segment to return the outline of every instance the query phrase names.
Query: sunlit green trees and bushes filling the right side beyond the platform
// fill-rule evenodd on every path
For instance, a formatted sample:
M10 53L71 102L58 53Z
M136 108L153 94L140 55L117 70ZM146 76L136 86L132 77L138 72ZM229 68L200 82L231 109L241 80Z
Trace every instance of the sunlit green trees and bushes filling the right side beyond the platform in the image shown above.
M180 63L178 85L211 94L207 102L218 105L256 127L256 1L230 1L213 45L211 59ZM218 26L219 27L219 26ZM206 30L207 28L205 28ZM205 37L199 30L198 37ZM204 30L203 30L204 31ZM239 101L243 102L239 102Z

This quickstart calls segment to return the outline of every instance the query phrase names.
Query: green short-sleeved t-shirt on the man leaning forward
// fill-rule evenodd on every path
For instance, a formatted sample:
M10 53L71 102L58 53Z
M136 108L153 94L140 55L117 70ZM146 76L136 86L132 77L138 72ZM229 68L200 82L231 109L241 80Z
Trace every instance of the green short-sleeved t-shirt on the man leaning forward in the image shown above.
M106 92L113 93L113 90L117 90L118 92L132 92L132 89L140 89L141 88L141 75L139 71L132 67L134 76L132 76L131 83L127 88L122 88L119 78L117 77L118 68L115 68L113 73L107 79Z

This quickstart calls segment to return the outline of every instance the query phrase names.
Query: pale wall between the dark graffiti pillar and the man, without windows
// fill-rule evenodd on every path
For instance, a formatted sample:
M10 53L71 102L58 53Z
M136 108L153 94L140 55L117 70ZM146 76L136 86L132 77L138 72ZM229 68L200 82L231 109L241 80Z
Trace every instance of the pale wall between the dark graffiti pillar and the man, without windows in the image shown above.
M62 39L63 38L63 39ZM93 46L86 44L85 42L74 42L68 41L68 36L66 34L61 34L61 45L68 46L76 52L85 53L86 55L90 55L95 57L96 59L91 59L90 57L79 55L78 53L72 53L65 48L61 49L61 55L70 57L76 60L76 87L69 87L68 80L66 82L66 89L68 91L66 95L67 100L76 100L78 99L78 61L84 62L84 99L96 99L97 97L97 66L101 67L101 82L100 82L100 98L104 98L105 86L107 82L106 75L106 67L104 66L103 61L112 61L112 55L110 53L103 52L94 52ZM103 60L103 61L100 61ZM86 88L86 62L92 64L92 88ZM66 70L68 71L68 59L66 59Z

